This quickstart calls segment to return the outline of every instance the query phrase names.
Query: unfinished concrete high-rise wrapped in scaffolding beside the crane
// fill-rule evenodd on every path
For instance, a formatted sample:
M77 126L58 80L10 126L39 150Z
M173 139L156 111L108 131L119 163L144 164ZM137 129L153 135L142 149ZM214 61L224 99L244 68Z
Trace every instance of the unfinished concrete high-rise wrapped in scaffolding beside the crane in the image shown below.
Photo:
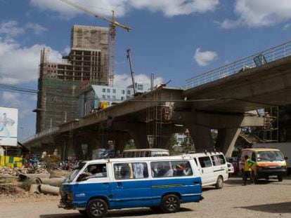
M71 50L63 62L50 62L48 48L41 50L37 132L76 118L82 86L108 86L108 34L106 27L74 25Z

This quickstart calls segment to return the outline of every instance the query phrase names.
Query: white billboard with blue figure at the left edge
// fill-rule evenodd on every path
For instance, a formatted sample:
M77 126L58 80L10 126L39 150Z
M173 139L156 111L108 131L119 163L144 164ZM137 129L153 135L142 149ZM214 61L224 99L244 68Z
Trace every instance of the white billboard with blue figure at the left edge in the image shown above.
M17 146L18 109L0 107L0 146Z

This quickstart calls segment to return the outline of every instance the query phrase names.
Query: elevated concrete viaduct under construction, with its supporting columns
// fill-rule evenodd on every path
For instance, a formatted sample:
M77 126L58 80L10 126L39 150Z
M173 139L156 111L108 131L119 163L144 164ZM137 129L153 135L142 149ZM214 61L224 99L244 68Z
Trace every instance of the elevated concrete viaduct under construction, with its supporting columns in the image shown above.
M229 156L240 128L264 125L263 118L245 112L290 104L290 90L291 57L285 57L188 90L161 87L23 143L35 151L58 148L63 158L82 157L81 144L87 144L85 158L90 158L94 148L108 148L108 140L120 150L128 139L139 148L165 147L169 135L185 128L196 149L210 148L214 146L210 130L217 129L215 146ZM160 132L154 134L151 130L157 124ZM154 137L150 145L149 136Z

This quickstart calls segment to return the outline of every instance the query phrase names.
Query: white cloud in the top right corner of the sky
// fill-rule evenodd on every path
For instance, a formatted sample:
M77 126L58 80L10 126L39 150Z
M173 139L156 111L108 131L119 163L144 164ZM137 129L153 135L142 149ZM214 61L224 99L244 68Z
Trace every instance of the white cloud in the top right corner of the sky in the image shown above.
M219 22L222 28L272 26L291 19L290 0L236 0L236 20Z

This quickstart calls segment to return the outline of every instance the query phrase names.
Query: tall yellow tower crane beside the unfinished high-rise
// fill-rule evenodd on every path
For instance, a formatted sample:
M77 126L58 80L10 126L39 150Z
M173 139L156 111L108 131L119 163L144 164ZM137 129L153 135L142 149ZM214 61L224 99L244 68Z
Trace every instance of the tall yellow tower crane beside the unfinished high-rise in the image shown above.
M108 78L109 78L109 86L113 86L113 79L114 79L114 58L115 58L115 35L116 35L116 31L115 28L116 27L122 27L123 29L127 29L127 32L131 31L131 27L127 27L126 25L122 25L119 22L117 22L115 20L115 11L112 11L112 20L103 17L102 15L98 15L98 13L95 13L93 11L89 11L87 8L85 8L84 6L80 6L78 4L75 4L72 1L68 1L68 0L60 0L63 1L66 4L69 4L70 6L73 6L75 8L78 8L81 11L84 11L86 13L89 13L91 15L93 15L95 18L99 18L101 20L104 20L106 22L110 23L110 60L109 60L109 74L108 74Z

